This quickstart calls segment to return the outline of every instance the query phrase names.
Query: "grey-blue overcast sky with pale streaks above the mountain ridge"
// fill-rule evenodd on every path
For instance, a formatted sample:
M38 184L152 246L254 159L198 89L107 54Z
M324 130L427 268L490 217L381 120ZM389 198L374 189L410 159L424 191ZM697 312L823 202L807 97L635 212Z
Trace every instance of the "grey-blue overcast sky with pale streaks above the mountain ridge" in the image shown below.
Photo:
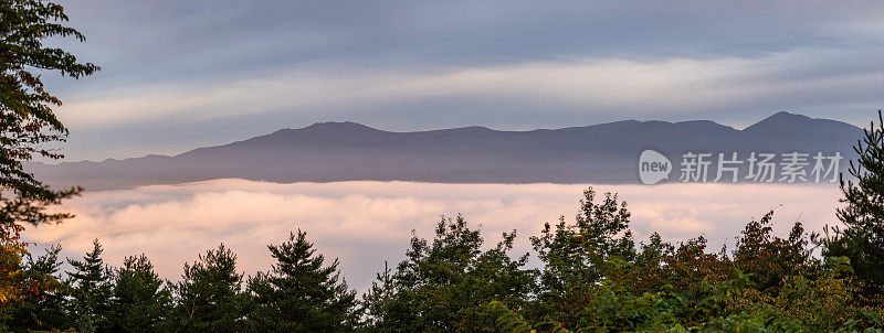
M557 128L884 106L880 1L64 1L103 71L46 75L69 160L352 120Z

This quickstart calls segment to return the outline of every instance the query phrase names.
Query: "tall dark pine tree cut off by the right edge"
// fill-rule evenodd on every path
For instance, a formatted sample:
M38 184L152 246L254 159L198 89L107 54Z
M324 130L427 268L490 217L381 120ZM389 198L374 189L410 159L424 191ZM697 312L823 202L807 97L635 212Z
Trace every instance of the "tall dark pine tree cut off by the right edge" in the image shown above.
M884 119L878 110L863 138L853 147L859 159L850 162L851 180L841 178L846 204L838 211L843 228L824 229L823 255L850 258L856 277L864 283L863 297L870 303L884 301Z

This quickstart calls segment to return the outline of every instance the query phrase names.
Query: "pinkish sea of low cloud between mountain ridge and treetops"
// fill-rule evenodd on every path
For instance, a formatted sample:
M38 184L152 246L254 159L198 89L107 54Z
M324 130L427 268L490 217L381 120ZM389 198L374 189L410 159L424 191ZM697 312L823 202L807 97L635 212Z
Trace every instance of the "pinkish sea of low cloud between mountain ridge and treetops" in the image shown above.
M341 259L351 287L364 288L385 260L391 266L401 260L412 229L432 236L442 215L461 213L472 226L481 225L486 246L496 243L502 232L517 229L516 253L528 251L527 237L537 235L544 222L561 215L573 221L587 186L243 180L145 186L86 193L64 207L77 217L31 228L25 238L41 246L61 244L63 255L80 257L97 237L112 265L145 253L160 276L175 280L185 261L222 241L239 255L239 267L246 273L266 270L271 264L266 245L301 228L319 253ZM672 241L704 235L712 248L733 247L746 222L775 207L775 230L785 235L799 219L808 230L820 230L835 221L839 206L832 184L593 187L600 195L618 192L629 203L636 241L652 232Z

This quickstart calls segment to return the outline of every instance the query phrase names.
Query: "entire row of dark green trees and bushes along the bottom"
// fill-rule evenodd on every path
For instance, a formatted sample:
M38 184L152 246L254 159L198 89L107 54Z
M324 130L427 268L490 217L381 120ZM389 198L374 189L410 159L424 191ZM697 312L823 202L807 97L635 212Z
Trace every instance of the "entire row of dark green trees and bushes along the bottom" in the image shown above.
M224 245L160 279L144 255L112 268L102 246L60 271L59 246L30 258L34 286L2 311L4 331L77 332L568 332L877 331L882 293L848 256L812 256L800 223L771 233L774 212L749 222L733 250L697 237L634 244L615 194L589 189L573 223L562 217L512 256L516 232L483 249L481 230L443 218L435 236L414 236L407 259L385 267L360 298L298 230L270 245L270 271L245 278ZM824 250L829 254L831 250ZM878 266L880 267L880 266ZM866 331L869 332L869 331Z

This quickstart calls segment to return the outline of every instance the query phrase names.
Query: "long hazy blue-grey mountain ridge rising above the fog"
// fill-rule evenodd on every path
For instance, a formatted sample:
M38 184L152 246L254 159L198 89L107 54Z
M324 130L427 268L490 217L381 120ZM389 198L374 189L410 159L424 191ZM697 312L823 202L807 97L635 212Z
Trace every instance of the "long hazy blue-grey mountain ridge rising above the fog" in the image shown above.
M862 130L776 114L737 130L713 121L625 120L586 127L499 131L465 127L390 132L354 122L283 129L178 155L29 165L55 185L125 189L222 178L271 182L636 183L645 149L677 168L684 152L841 152L853 158ZM714 169L711 171L714 172ZM714 175L714 174L713 174ZM674 170L672 178L678 178Z

